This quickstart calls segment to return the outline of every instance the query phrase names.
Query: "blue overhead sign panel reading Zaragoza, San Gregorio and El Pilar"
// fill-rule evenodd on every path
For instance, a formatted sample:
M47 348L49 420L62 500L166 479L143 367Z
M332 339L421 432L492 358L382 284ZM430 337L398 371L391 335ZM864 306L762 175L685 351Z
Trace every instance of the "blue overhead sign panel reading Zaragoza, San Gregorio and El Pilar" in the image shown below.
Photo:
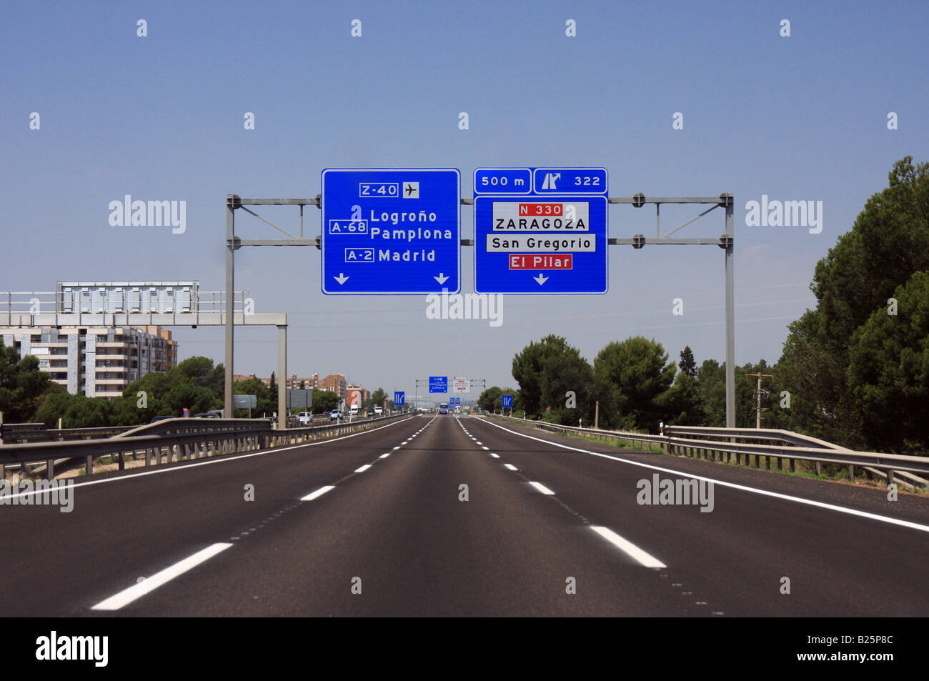
M518 177L531 178L530 194L496 190ZM607 293L607 192L605 168L478 168L475 291Z

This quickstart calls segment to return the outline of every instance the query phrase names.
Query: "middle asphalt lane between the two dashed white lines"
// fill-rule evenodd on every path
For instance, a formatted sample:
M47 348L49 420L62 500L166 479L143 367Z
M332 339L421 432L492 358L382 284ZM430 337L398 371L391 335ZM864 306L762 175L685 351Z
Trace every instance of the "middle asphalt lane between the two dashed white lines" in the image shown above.
M440 417L362 475L117 614L701 613Z

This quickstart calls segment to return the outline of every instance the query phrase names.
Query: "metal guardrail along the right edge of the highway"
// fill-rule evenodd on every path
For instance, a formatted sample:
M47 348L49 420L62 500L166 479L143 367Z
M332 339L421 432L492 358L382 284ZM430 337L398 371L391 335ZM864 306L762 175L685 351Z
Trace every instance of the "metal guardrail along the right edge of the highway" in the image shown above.
M660 444L665 448L666 452L672 454L683 454L713 461L716 461L718 456L719 461L725 460L726 463L730 463L732 458L735 457L738 465L742 464L743 456L745 457L745 465L751 465L750 457L754 456L755 468L761 467L761 459L764 457L765 469L767 470L771 469L771 459L773 458L777 461L779 470L782 470L783 461L787 460L791 472L795 471L794 463L796 461L811 462L816 466L817 475L821 474L821 465L824 463L844 465L848 468L849 479L855 478L855 466L881 470L886 474L887 481L891 483L894 482L895 472L929 473L929 457L884 454L881 452L856 452L790 430L664 426L663 435L648 435L646 433L629 433L618 430L560 426L544 421L529 421L499 414L488 415L524 426L532 426L552 432L573 433L587 438L622 439L632 442ZM763 444L762 442L779 442L779 444ZM920 484L925 482L922 478L912 477L912 479Z

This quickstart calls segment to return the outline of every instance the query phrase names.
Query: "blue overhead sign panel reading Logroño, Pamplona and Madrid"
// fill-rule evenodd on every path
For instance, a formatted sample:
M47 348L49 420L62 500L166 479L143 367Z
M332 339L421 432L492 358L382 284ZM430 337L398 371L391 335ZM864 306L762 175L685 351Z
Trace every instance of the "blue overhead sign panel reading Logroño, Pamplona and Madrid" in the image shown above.
M461 291L461 174L455 168L326 168L322 293Z

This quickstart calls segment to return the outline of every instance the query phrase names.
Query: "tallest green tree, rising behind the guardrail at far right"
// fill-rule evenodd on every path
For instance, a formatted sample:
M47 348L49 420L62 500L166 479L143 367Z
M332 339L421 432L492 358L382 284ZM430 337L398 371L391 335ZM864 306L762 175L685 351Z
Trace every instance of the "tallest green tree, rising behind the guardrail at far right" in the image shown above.
M860 365L869 352L857 347L858 360L853 360L852 347L876 342L880 324L870 322L872 317L886 314L888 298L915 273L929 269L929 164L911 162L907 156L894 165L888 187L870 197L853 228L818 262L811 284L817 307L790 325L779 360L783 386L791 393L785 422L847 447L885 447L878 435L885 430L881 414L873 411L880 403L873 400L874 388L852 383L880 382ZM868 333L858 334L869 322ZM889 361L893 356L876 352L874 357ZM907 410L903 420L921 410L913 402L900 406Z

